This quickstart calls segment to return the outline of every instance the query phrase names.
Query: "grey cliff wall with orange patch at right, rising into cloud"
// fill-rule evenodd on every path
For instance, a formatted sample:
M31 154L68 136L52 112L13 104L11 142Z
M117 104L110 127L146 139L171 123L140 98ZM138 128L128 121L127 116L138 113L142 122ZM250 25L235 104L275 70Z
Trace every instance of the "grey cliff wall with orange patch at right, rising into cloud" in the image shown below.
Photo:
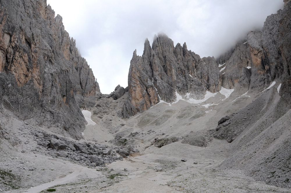
M261 91L276 81L282 83L280 94L290 98L290 3L284 2L284 10L268 16L262 31L250 31L245 42L217 58L223 87Z

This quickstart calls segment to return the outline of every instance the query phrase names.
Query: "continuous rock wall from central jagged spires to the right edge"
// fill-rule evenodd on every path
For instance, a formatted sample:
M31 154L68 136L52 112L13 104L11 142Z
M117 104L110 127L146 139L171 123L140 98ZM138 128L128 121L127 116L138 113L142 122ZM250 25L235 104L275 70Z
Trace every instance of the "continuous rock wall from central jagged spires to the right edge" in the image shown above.
M166 35L155 36L152 47L146 40L143 55L134 52L130 62L129 101L119 115L127 118L160 100L172 103L176 91L201 99L221 86L259 93L273 81L282 83L280 95L290 99L290 1L284 2L284 10L268 16L262 31L250 31L216 60L200 58L186 44L174 47Z

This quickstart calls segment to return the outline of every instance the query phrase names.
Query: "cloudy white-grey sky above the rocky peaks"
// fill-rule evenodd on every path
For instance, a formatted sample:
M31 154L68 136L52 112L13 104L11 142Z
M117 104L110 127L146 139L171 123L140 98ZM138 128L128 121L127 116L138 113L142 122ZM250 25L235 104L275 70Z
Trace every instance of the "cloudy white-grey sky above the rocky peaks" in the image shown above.
M219 56L248 31L260 30L268 15L283 8L283 0L47 0L63 17L65 30L76 39L103 94L127 75L136 49L143 53L145 38L166 33L186 42L200 57Z

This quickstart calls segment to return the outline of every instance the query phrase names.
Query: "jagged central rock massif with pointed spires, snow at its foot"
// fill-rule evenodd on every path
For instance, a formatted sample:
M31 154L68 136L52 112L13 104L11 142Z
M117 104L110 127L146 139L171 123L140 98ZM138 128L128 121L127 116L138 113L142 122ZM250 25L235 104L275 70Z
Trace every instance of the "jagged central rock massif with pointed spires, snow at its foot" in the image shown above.
M129 101L120 116L128 118L143 112L160 100L172 103L176 91L194 99L203 99L206 90L221 89L221 74L215 59L200 58L187 50L186 43L174 47L166 35L154 37L152 47L145 40L142 56L133 53L128 74Z

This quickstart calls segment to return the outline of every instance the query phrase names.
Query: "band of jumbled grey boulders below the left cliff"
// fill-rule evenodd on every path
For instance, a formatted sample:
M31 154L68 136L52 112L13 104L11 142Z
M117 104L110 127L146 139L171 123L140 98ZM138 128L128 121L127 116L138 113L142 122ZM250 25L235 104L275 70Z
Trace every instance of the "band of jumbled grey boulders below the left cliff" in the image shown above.
M65 160L74 160L79 164L88 166L99 166L116 160L123 160L123 157L138 151L133 146L108 147L92 143L79 143L57 135L41 133L43 137L38 138L38 145L44 147L47 154Z

